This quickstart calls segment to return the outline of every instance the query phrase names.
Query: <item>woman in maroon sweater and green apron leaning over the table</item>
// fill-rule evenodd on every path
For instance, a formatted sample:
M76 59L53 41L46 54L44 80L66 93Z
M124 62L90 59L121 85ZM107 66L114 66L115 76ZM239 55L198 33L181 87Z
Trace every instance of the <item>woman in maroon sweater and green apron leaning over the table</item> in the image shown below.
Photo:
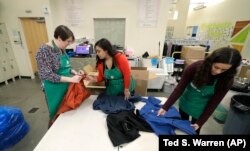
M199 134L202 125L233 84L237 67L241 63L239 51L229 47L213 51L205 60L189 65L174 92L158 111L165 114L179 99L179 112L183 120L189 120Z

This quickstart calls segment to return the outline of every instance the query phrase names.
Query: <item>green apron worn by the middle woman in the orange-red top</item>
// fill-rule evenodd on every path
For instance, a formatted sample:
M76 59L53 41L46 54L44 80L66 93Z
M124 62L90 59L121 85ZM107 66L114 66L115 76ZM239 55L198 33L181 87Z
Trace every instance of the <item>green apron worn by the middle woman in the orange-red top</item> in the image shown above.
M105 64L105 62L104 62ZM124 80L121 71L114 67L113 69L104 70L104 77L106 82L106 93L108 95L124 94ZM135 89L135 81L130 77L129 91L132 92Z

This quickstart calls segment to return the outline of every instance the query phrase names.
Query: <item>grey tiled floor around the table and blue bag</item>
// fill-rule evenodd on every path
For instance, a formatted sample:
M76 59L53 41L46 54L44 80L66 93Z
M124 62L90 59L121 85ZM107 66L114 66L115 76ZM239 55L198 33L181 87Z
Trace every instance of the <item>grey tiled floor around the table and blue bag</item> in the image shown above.
M167 97L168 94L150 91L148 95ZM17 79L8 85L0 85L0 105L15 106L22 110L30 125L29 133L14 147L7 151L32 151L48 128L48 110L44 94L40 90L38 79ZM35 113L28 113L32 108L39 108ZM212 117L201 129L201 134L222 134L223 124L218 124Z

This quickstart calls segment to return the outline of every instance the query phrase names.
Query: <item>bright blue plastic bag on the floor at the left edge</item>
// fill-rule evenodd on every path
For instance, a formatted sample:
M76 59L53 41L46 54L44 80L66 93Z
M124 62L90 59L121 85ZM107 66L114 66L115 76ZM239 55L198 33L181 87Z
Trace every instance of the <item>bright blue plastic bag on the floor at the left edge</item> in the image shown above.
M0 150L18 143L29 131L20 109L0 106Z

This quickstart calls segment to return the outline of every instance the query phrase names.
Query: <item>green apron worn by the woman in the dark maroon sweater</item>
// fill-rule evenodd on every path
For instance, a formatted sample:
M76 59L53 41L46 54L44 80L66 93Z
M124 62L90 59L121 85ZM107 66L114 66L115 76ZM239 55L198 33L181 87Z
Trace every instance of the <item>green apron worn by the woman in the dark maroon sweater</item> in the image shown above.
M213 85L203 86L200 89L190 83L180 97L179 108L193 118L198 119L213 97L216 83L217 80L214 81Z

